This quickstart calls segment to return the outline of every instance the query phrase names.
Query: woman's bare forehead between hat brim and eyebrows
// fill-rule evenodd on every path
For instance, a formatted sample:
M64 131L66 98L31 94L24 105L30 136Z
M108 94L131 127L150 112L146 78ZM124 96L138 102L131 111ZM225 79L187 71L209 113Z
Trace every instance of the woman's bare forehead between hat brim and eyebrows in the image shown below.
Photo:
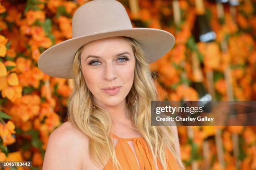
M122 37L102 38L99 40L91 41L84 45L82 56L87 55L104 55L106 53L122 53L129 51L132 53L132 47Z

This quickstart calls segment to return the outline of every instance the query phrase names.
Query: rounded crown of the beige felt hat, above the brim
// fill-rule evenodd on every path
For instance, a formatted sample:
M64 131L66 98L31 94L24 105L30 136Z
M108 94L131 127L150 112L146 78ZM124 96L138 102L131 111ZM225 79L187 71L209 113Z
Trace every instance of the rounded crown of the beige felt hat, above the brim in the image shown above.
M80 6L72 18L72 37L133 28L124 6L116 0L92 0Z

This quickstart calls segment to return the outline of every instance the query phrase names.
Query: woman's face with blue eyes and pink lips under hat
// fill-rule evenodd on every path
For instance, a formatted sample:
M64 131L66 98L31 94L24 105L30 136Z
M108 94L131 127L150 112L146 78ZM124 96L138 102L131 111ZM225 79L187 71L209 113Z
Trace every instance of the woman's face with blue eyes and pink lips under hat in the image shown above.
M132 47L121 37L95 40L84 46L82 73L96 104L110 107L125 101L133 85L135 63ZM112 87L115 89L107 90Z

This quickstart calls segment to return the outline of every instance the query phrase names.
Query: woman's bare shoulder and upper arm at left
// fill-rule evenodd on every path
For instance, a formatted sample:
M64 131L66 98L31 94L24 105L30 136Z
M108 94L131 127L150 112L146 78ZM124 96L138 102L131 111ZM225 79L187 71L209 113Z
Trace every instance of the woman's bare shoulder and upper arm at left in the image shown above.
M71 122L64 122L49 137L43 170L80 170L87 146L87 136Z

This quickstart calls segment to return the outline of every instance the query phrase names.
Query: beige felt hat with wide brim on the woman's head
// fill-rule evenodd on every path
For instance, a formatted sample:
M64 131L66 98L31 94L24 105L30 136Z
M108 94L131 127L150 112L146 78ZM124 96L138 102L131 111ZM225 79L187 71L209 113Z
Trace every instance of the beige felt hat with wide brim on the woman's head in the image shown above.
M127 36L143 48L148 63L164 56L175 42L161 29L133 28L124 6L116 0L92 0L80 6L72 18L72 38L44 51L38 67L49 76L72 79L73 61L84 44L101 38Z

